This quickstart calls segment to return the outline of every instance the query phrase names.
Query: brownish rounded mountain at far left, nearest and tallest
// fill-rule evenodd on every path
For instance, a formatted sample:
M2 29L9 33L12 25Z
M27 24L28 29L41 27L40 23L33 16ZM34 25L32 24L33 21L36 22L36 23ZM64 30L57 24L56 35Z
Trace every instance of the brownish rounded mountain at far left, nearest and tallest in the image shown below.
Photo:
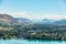
M0 13L0 22L4 22L4 23L15 23L16 20L15 20L13 16L9 15L9 14L1 14L1 13Z

